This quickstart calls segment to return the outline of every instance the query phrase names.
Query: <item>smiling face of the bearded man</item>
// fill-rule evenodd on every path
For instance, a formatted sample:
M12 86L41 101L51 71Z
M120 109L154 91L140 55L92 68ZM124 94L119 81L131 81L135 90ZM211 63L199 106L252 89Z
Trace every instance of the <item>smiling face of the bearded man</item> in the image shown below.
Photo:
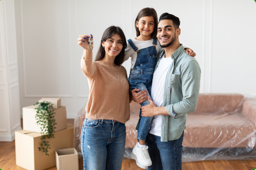
M158 23L157 38L162 48L171 46L172 43L176 41L177 30L175 30L172 20L170 19L164 19Z

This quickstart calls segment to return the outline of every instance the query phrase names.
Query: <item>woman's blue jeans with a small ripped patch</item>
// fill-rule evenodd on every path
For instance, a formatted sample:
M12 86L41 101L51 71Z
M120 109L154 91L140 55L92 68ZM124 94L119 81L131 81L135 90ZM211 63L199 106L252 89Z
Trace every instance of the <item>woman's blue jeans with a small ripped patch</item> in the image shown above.
M121 170L125 139L125 124L85 118L81 133L84 170Z

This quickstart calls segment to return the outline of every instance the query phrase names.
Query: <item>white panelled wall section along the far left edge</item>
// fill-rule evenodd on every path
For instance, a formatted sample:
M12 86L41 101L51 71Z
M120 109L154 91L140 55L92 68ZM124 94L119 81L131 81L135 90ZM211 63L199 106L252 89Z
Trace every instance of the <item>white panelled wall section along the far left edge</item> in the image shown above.
M14 0L1 3L0 141L12 141L14 139L14 131L21 129L16 19Z

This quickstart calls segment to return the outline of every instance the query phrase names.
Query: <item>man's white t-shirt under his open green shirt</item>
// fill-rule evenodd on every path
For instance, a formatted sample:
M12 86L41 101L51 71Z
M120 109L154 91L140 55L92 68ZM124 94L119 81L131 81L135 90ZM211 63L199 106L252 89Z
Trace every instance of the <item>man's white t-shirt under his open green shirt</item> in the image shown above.
M172 65L172 58L161 58L159 65L153 75L151 97L156 106L162 106L164 98L164 82L166 74ZM162 115L156 115L151 121L149 133L161 136Z

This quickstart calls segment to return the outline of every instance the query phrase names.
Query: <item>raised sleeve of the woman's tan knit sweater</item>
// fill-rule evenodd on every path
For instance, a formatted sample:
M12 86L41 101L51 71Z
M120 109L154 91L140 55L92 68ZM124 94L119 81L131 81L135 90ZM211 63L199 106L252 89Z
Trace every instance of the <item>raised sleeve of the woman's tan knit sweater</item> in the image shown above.
M81 69L86 77L93 77L95 73L95 67L92 62L92 51L84 50L83 57L81 58Z

